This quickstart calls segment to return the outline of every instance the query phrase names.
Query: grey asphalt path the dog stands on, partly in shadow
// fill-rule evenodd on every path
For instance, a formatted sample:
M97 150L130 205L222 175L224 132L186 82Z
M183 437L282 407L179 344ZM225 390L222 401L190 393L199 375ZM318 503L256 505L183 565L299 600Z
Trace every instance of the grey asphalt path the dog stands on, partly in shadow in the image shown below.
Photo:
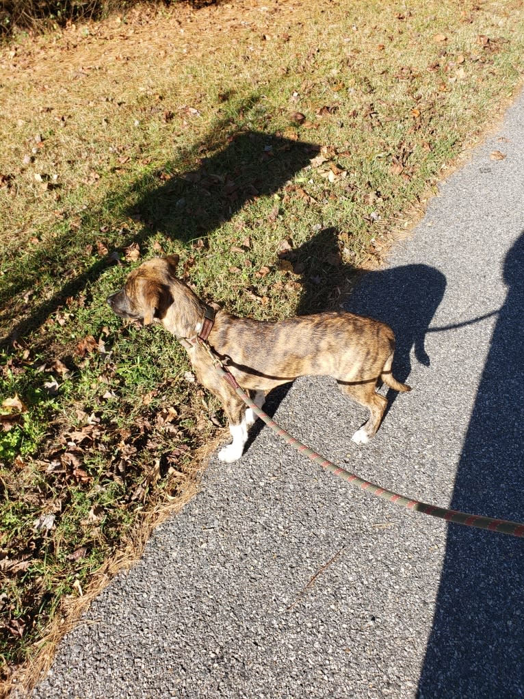
M384 487L524 521L523 185L521 94L347 303L393 326L412 393L362 447L365 412L330 380L277 392L277 421ZM33 696L522 697L523 590L523 540L372 498L259 422L241 461L212 459L201 493L101 593Z

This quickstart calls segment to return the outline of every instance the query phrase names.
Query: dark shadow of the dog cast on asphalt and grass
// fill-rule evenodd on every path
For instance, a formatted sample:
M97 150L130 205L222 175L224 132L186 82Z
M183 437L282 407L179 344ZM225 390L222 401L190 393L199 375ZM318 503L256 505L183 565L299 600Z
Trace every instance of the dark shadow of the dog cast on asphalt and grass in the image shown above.
M336 229L322 229L305 245L286 254L300 271L303 295L298 315L310 315L326 309L348 310L387 323L395 332L396 349L393 375L404 383L412 369L412 350L416 361L430 366L425 350L425 335L446 289L446 278L437 269L424 264L359 272L344 265ZM341 290L353 286L350 293ZM264 411L274 417L291 383L279 386L266 396ZM397 391L388 389L388 410ZM246 448L259 435L263 423L257 420L249 432Z

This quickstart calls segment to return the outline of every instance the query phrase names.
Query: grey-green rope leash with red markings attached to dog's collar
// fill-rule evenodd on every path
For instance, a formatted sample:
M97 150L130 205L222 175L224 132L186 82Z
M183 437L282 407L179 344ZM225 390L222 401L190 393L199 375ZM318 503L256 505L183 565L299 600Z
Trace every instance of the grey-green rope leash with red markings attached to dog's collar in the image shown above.
M349 471L342 468L342 466L337 466L335 463L328 461L321 454L317 454L307 447L305 444L300 442L298 439L292 437L289 432L286 432L282 427L277 425L277 423L269 417L261 408L252 401L252 399L242 391L238 385L237 380L231 373L231 371L222 363L219 357L214 354L210 345L207 342L202 343L205 347L213 361L213 366L217 370L217 373L223 377L228 384L233 387L235 393L242 398L242 401L253 410L255 415L260 417L261 420L265 422L268 427L270 427L274 432L282 437L289 445L294 447L299 454L305 454L309 456L312 461L319 463L322 468L325 468L330 473L336 476L340 476L347 480L348 483L365 490L367 493L371 493L377 498L382 498L383 500L388 500L390 503L395 503L395 505L400 505L400 507L407 507L408 510L414 510L414 512L422 512L423 514L429 514L430 517L439 517L439 519L445 519L446 521L453 522L455 524L463 524L465 526L472 526L479 529L487 529L488 531L496 531L501 534L509 534L511 536L524 537L524 522L513 522L507 519L494 519L493 517L482 517L479 514L468 514L467 512L458 512L457 510L446 510L444 507L437 507L437 505L428 505L428 503L423 503L421 500L413 500L412 498L406 498L399 493L394 493L386 488L381 488L374 483L363 480L363 478L358 477L354 473L349 473Z

